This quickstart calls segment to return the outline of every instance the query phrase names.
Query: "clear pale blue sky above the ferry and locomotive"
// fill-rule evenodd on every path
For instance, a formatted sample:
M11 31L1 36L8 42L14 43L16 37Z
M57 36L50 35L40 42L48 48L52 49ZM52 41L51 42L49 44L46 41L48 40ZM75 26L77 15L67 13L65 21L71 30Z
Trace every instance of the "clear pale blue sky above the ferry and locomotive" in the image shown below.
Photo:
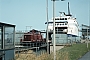
M71 14L77 18L79 26L89 25L89 0L58 0L55 2L55 16L59 12L67 13L70 4ZM53 2L48 0L48 19L53 17ZM47 21L46 0L0 0L0 22L16 25L16 30L31 29L45 30ZM30 27L27 27L30 29Z

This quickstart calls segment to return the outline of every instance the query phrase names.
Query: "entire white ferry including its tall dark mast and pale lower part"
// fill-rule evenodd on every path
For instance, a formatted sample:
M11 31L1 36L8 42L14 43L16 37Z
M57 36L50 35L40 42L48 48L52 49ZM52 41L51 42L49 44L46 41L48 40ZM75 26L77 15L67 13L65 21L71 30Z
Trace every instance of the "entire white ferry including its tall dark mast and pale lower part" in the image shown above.
M45 22L45 24L47 24L47 22ZM67 39L70 39L70 37L74 38L73 40L75 40L76 37L78 36L78 26L79 26L79 24L78 24L76 18L70 14L69 2L68 2L68 14L66 14L65 12L60 12L60 16L55 17L56 40L58 40L57 43L59 43L59 42L61 43L61 41L60 41L61 38L64 41L66 40L65 43L68 42ZM52 37L52 35L53 35L53 18L48 21L48 33L49 33L49 40L50 40L50 38L51 38L51 40L53 40L53 37ZM62 34L62 35L60 35L60 34Z

